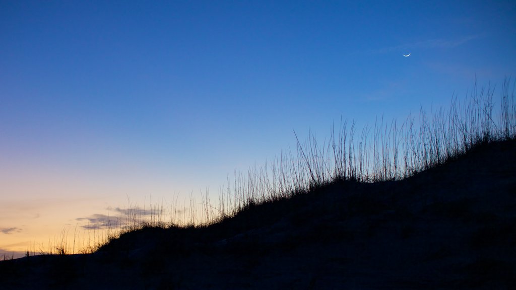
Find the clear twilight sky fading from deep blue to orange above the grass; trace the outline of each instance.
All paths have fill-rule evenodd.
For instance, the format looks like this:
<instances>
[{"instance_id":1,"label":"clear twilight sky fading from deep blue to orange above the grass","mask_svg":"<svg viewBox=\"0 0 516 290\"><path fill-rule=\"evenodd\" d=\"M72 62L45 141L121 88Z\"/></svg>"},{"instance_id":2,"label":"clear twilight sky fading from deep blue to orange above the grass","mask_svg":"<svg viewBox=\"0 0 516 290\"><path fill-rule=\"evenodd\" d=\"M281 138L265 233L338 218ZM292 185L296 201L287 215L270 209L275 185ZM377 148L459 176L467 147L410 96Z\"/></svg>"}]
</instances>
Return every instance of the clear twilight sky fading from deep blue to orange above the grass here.
<instances>
[{"instance_id":1,"label":"clear twilight sky fading from deep blue to orange above the grass","mask_svg":"<svg viewBox=\"0 0 516 290\"><path fill-rule=\"evenodd\" d=\"M0 0L0 255L499 88L515 35L513 1Z\"/></svg>"}]
</instances>

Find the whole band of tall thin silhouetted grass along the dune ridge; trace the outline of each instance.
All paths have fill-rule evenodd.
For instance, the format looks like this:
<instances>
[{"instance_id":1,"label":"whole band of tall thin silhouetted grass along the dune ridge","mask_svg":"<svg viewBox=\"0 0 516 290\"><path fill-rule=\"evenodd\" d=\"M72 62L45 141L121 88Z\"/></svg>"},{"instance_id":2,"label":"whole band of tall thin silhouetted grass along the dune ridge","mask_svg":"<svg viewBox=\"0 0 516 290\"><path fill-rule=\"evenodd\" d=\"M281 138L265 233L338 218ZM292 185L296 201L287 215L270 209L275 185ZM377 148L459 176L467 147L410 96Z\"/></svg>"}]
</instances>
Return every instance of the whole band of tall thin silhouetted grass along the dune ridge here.
<instances>
[{"instance_id":1,"label":"whole band of tall thin silhouetted grass along the dune ridge","mask_svg":"<svg viewBox=\"0 0 516 290\"><path fill-rule=\"evenodd\" d=\"M493 102L495 88L478 89L476 82L467 98L451 99L448 108L409 115L402 122L377 118L361 130L354 121L333 124L322 142L309 133L298 138L295 150L247 172L235 171L219 188L217 205L209 191L198 202L190 195L189 212L178 214L177 198L141 210L128 201L128 209L117 224L107 229L89 229L82 238L63 230L50 251L39 253L91 253L122 234L146 228L202 228L231 218L250 207L307 194L332 182L375 183L402 180L418 172L458 158L475 147L516 138L516 82L505 79L499 104ZM145 204L144 204L145 206ZM150 214L149 214L150 213ZM168 218L168 219L167 219ZM82 244L77 241L83 240ZM49 245L51 243L49 242ZM36 254L34 249L27 255ZM4 258L5 259L5 258Z\"/></svg>"}]
</instances>

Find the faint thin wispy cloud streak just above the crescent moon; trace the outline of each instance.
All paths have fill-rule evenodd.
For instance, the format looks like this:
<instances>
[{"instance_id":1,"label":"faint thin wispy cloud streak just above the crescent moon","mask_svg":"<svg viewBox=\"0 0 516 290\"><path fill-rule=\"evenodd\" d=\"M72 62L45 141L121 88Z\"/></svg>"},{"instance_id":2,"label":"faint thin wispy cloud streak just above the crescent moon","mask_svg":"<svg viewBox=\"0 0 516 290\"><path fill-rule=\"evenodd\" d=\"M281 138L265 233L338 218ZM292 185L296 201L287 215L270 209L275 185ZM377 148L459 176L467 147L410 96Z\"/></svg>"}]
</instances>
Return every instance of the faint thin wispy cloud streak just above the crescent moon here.
<instances>
[{"instance_id":1,"label":"faint thin wispy cloud streak just above the crescent moon","mask_svg":"<svg viewBox=\"0 0 516 290\"><path fill-rule=\"evenodd\" d=\"M429 39L424 41L400 44L391 47L383 47L382 49L378 50L370 50L369 53L384 54L394 51L406 51L414 49L450 49L480 37L481 35L469 35L457 39Z\"/></svg>"}]
</instances>

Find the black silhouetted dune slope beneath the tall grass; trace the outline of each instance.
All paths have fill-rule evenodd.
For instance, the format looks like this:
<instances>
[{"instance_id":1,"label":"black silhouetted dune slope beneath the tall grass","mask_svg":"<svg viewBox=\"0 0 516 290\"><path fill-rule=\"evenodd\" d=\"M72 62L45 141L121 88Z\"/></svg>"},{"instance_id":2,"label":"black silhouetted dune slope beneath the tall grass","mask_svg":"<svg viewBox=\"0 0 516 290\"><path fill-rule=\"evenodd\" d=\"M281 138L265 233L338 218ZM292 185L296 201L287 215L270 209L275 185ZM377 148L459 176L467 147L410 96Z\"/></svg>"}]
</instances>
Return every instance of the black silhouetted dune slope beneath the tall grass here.
<instances>
[{"instance_id":1,"label":"black silhouetted dune slope beneath the tall grass","mask_svg":"<svg viewBox=\"0 0 516 290\"><path fill-rule=\"evenodd\" d=\"M334 183L204 229L0 262L7 289L516 289L516 142L396 182Z\"/></svg>"}]
</instances>

